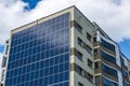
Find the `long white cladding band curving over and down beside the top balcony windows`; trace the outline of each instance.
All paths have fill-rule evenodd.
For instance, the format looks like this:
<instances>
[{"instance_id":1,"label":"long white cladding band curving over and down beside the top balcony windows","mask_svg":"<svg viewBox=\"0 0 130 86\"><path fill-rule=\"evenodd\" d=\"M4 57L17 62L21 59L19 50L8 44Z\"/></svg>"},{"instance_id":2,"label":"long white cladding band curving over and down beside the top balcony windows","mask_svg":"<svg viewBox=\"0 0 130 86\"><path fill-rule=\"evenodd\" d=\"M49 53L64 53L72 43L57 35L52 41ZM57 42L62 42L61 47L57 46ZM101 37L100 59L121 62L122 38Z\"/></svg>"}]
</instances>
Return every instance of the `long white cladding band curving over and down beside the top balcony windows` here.
<instances>
[{"instance_id":1,"label":"long white cladding band curving over and down beside the top balcony windows","mask_svg":"<svg viewBox=\"0 0 130 86\"><path fill-rule=\"evenodd\" d=\"M101 38L102 38L103 40L105 40L106 42L108 42L108 43L110 43L110 44L113 44L113 45L115 46L115 51L116 51L116 63L117 63L119 67L121 67L121 63L120 63L120 52L119 52L118 45L117 45L115 42L113 42L113 41L104 38L104 37L100 33L100 31L98 31L98 41L101 42Z\"/></svg>"}]
</instances>

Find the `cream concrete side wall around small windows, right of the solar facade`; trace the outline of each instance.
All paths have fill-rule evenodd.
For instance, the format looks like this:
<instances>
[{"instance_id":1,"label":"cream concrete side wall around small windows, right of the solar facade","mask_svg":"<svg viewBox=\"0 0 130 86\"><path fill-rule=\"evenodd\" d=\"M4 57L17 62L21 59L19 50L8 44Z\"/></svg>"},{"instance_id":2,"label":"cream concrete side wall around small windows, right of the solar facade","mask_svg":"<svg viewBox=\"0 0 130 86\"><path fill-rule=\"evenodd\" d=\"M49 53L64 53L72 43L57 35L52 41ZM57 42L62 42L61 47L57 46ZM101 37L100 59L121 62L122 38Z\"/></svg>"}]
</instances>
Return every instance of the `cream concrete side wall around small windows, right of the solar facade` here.
<instances>
[{"instance_id":1,"label":"cream concrete side wall around small windows, right of the solar facade","mask_svg":"<svg viewBox=\"0 0 130 86\"><path fill-rule=\"evenodd\" d=\"M80 61L76 56L70 56L70 63L77 63L83 70L94 75L93 69L88 67L87 59L94 60L93 56L90 55L84 48L78 45L77 38L79 37L86 44L92 47L92 42L87 40L87 32L92 34L92 24L88 22L88 19L80 14L80 12L75 9L74 11L74 19L82 27L82 33L78 32L76 28L70 28L70 48L75 47L79 52L83 54L82 61ZM74 20L73 19L73 20ZM82 83L84 86L94 86L94 84L90 83L87 78L80 76L78 73L72 71L70 72L70 86L78 86L78 82Z\"/></svg>"}]
</instances>

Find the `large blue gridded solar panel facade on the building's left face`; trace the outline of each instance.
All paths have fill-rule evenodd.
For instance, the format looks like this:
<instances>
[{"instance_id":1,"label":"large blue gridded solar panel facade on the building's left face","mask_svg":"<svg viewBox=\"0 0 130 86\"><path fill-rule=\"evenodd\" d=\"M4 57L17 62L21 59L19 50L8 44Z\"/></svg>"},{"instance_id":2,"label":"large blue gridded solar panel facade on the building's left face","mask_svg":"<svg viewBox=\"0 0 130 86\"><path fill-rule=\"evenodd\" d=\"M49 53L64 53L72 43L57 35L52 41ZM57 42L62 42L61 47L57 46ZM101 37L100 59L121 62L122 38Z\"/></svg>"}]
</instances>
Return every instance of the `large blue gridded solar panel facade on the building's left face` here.
<instances>
[{"instance_id":1,"label":"large blue gridded solar panel facade on the building's left face","mask_svg":"<svg viewBox=\"0 0 130 86\"><path fill-rule=\"evenodd\" d=\"M12 34L5 86L69 86L69 13Z\"/></svg>"}]
</instances>

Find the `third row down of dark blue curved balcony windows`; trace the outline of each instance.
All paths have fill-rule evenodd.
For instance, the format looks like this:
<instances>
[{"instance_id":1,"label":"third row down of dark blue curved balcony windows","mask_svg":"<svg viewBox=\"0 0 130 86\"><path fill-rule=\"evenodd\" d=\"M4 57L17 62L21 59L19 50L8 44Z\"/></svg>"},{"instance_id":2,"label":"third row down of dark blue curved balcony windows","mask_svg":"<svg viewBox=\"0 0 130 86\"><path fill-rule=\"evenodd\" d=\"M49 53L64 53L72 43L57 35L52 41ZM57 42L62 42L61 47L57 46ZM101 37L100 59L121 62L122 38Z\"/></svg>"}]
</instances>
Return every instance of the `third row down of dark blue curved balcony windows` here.
<instances>
[{"instance_id":1,"label":"third row down of dark blue curved balcony windows","mask_svg":"<svg viewBox=\"0 0 130 86\"><path fill-rule=\"evenodd\" d=\"M102 63L102 70L107 73L107 74L110 74L110 75L114 75L114 76L117 76L117 70L115 69L112 69L105 64Z\"/></svg>"}]
</instances>

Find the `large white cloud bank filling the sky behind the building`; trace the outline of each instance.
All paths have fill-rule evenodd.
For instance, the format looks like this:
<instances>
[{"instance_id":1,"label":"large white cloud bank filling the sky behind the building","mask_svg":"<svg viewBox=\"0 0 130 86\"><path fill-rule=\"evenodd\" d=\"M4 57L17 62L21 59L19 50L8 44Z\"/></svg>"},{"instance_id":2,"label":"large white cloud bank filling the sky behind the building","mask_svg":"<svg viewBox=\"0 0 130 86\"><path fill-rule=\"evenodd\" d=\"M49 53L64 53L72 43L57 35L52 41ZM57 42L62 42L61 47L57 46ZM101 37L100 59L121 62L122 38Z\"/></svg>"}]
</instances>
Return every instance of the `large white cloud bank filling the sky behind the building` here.
<instances>
[{"instance_id":1,"label":"large white cloud bank filling the sky behind the building","mask_svg":"<svg viewBox=\"0 0 130 86\"><path fill-rule=\"evenodd\" d=\"M1 1L0 1L1 2ZM21 0L4 0L0 4L0 44L10 30L70 5L76 5L90 20L98 23L115 41L130 39L130 0L42 0L31 11Z\"/></svg>"}]
</instances>

